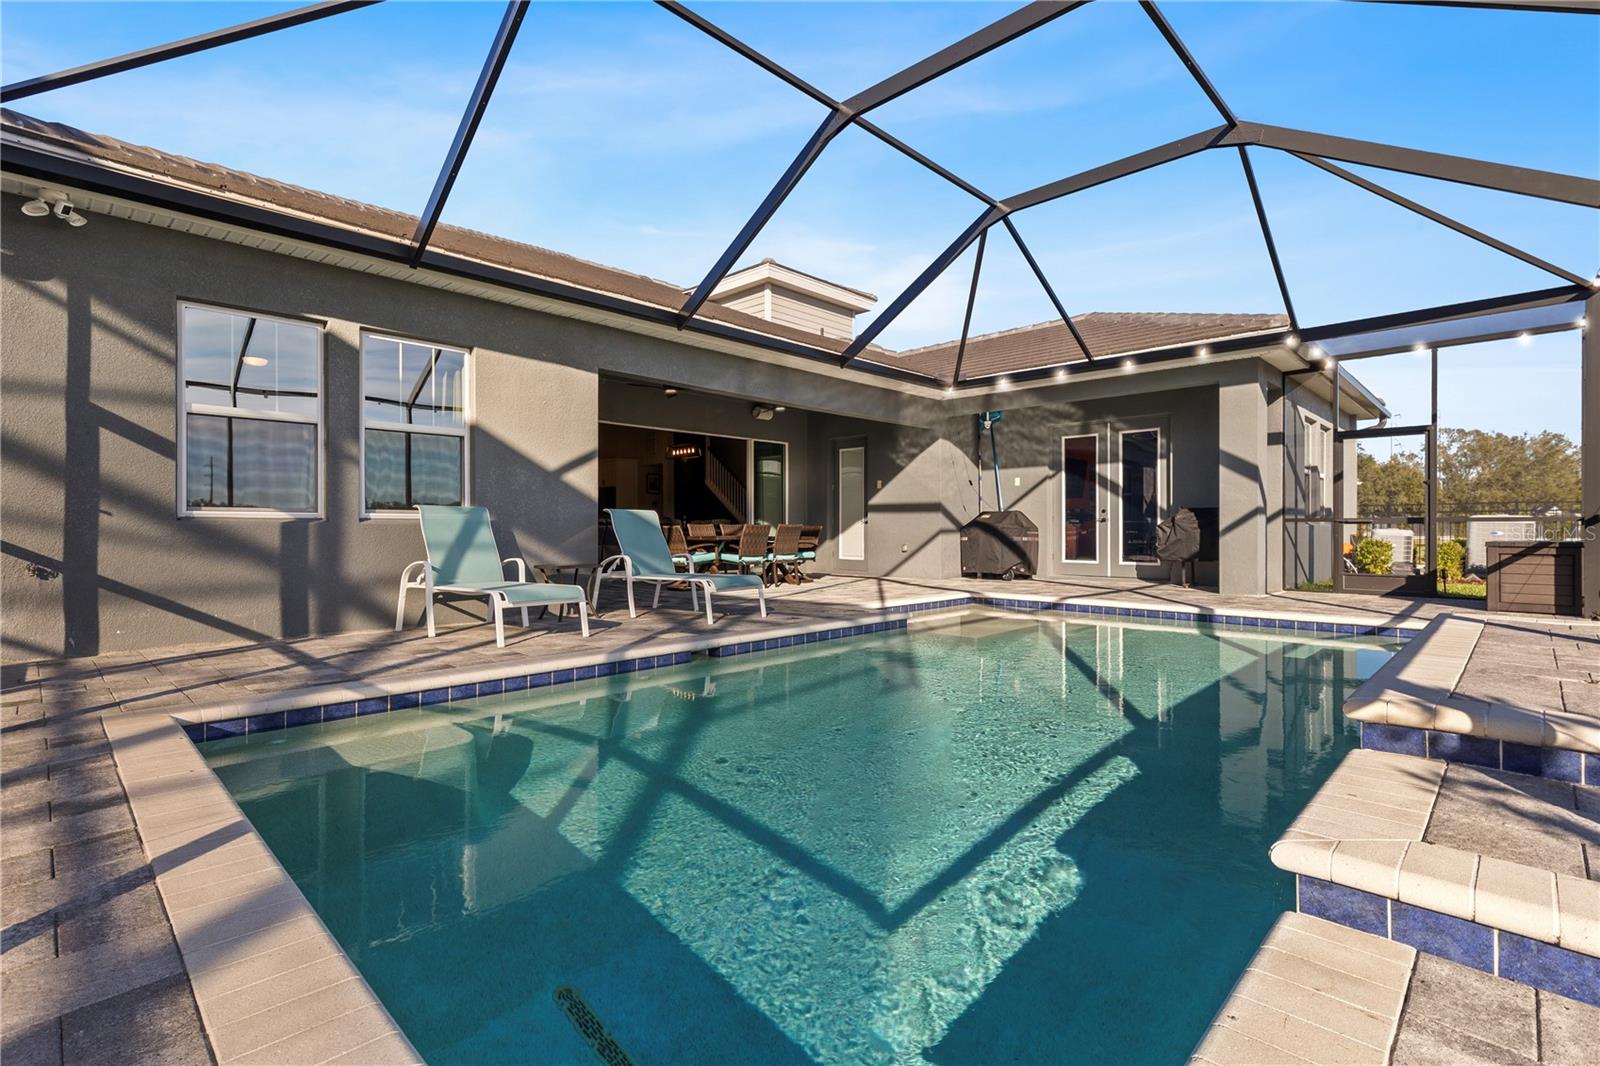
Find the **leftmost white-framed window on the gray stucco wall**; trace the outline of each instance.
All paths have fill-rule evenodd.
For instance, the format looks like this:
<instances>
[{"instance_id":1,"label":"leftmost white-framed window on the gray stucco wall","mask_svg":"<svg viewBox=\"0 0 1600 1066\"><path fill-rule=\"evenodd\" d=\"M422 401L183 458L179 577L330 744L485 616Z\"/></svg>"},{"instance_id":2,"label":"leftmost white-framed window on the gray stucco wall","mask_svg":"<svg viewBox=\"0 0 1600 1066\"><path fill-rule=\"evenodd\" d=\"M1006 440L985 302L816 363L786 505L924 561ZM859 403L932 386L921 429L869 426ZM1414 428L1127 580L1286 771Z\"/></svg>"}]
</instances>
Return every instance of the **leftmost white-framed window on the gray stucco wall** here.
<instances>
[{"instance_id":1,"label":"leftmost white-framed window on the gray stucco wall","mask_svg":"<svg viewBox=\"0 0 1600 1066\"><path fill-rule=\"evenodd\" d=\"M322 330L184 304L179 514L322 511Z\"/></svg>"}]
</instances>

